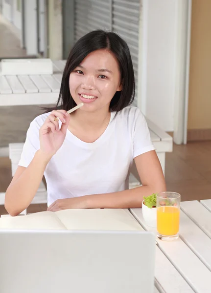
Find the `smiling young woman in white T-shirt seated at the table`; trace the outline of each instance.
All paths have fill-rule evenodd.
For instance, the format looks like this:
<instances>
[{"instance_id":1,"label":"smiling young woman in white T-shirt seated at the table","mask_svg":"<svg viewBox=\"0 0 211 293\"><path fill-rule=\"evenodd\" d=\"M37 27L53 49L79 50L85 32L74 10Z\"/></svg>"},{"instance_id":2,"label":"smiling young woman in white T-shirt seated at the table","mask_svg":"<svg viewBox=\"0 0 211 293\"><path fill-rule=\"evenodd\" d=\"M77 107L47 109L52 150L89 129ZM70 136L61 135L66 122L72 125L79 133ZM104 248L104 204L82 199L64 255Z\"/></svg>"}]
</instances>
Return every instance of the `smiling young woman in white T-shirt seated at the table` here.
<instances>
[{"instance_id":1,"label":"smiling young woman in white T-shirt seated at the table","mask_svg":"<svg viewBox=\"0 0 211 293\"><path fill-rule=\"evenodd\" d=\"M26 209L43 175L50 211L138 208L143 196L164 191L164 175L144 116L129 106L134 94L126 42L101 30L76 42L57 106L35 118L27 131L19 166L6 191L7 211L14 216ZM80 103L81 108L67 113ZM142 186L129 190L133 159Z\"/></svg>"}]
</instances>

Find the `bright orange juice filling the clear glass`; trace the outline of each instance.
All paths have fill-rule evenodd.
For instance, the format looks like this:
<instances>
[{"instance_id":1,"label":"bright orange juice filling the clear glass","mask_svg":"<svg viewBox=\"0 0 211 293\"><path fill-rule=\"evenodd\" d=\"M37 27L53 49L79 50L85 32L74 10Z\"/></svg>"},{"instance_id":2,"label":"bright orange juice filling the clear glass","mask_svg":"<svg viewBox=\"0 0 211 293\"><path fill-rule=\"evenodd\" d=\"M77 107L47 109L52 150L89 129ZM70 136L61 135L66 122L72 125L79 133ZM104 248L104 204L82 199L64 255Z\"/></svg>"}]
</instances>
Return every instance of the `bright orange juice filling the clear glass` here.
<instances>
[{"instance_id":1,"label":"bright orange juice filling the clear glass","mask_svg":"<svg viewBox=\"0 0 211 293\"><path fill-rule=\"evenodd\" d=\"M161 235L171 236L179 232L180 209L172 206L157 208L157 231Z\"/></svg>"}]
</instances>

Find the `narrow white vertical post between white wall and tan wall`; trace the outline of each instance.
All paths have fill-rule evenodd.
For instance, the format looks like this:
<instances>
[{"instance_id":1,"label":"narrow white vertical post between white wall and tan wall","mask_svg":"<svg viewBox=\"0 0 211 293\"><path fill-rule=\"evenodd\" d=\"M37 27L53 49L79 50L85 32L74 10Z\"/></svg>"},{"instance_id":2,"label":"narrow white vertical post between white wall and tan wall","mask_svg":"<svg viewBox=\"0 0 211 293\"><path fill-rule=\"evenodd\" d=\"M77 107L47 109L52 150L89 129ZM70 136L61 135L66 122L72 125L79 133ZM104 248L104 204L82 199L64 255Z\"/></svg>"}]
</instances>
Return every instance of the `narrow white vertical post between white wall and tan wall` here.
<instances>
[{"instance_id":1,"label":"narrow white vertical post between white wall and tan wall","mask_svg":"<svg viewBox=\"0 0 211 293\"><path fill-rule=\"evenodd\" d=\"M174 143L187 144L191 0L177 1L177 60L174 103Z\"/></svg>"}]
</instances>

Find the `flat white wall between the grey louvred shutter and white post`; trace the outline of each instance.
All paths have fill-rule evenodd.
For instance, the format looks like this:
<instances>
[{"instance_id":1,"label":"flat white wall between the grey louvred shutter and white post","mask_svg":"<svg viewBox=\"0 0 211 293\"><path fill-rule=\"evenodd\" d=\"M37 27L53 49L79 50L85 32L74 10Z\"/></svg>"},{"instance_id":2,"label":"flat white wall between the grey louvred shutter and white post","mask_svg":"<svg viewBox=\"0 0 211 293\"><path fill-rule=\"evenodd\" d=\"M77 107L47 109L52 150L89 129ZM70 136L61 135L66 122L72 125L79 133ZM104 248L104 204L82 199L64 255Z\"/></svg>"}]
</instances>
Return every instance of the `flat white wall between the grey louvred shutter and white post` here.
<instances>
[{"instance_id":1,"label":"flat white wall between the grey louvred shutter and white post","mask_svg":"<svg viewBox=\"0 0 211 293\"><path fill-rule=\"evenodd\" d=\"M143 0L139 106L151 121L174 130L177 0Z\"/></svg>"}]
</instances>

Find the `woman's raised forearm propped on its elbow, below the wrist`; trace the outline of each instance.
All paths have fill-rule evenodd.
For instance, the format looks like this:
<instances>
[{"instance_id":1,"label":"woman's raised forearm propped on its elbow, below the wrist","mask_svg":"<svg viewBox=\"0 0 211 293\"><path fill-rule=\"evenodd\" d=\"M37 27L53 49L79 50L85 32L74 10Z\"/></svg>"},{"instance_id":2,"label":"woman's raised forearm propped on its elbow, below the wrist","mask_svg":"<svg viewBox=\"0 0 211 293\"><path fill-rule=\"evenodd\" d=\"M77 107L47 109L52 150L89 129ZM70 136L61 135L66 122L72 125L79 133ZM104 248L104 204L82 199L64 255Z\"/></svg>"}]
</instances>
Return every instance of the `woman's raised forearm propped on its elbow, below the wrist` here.
<instances>
[{"instance_id":1,"label":"woman's raised forearm propped on its elbow, below the wrist","mask_svg":"<svg viewBox=\"0 0 211 293\"><path fill-rule=\"evenodd\" d=\"M10 215L18 215L30 205L43 179L49 160L49 156L38 150L20 177L11 182L5 194L5 209Z\"/></svg>"}]
</instances>

